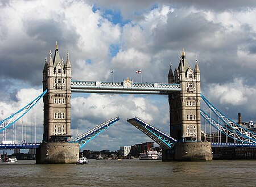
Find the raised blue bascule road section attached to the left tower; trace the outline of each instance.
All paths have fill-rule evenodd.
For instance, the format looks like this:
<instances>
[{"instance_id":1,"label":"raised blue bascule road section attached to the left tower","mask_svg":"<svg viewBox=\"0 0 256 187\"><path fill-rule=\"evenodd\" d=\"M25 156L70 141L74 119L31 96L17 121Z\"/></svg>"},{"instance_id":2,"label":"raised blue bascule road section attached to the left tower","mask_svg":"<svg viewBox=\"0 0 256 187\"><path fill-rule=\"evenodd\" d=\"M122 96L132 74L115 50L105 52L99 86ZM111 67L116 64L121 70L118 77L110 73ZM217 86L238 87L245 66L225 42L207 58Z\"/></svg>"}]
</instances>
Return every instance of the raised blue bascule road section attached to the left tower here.
<instances>
[{"instance_id":1,"label":"raised blue bascule road section attached to the left tower","mask_svg":"<svg viewBox=\"0 0 256 187\"><path fill-rule=\"evenodd\" d=\"M119 117L116 117L114 119L110 119L108 121L103 122L102 124L96 126L93 129L90 129L84 134L79 135L79 137L72 139L71 142L77 142L79 143L79 149L84 147L89 141L91 141L93 138L95 138L97 135L102 133L102 131L108 129L111 125L113 125L115 122L119 120Z\"/></svg>"}]
</instances>

